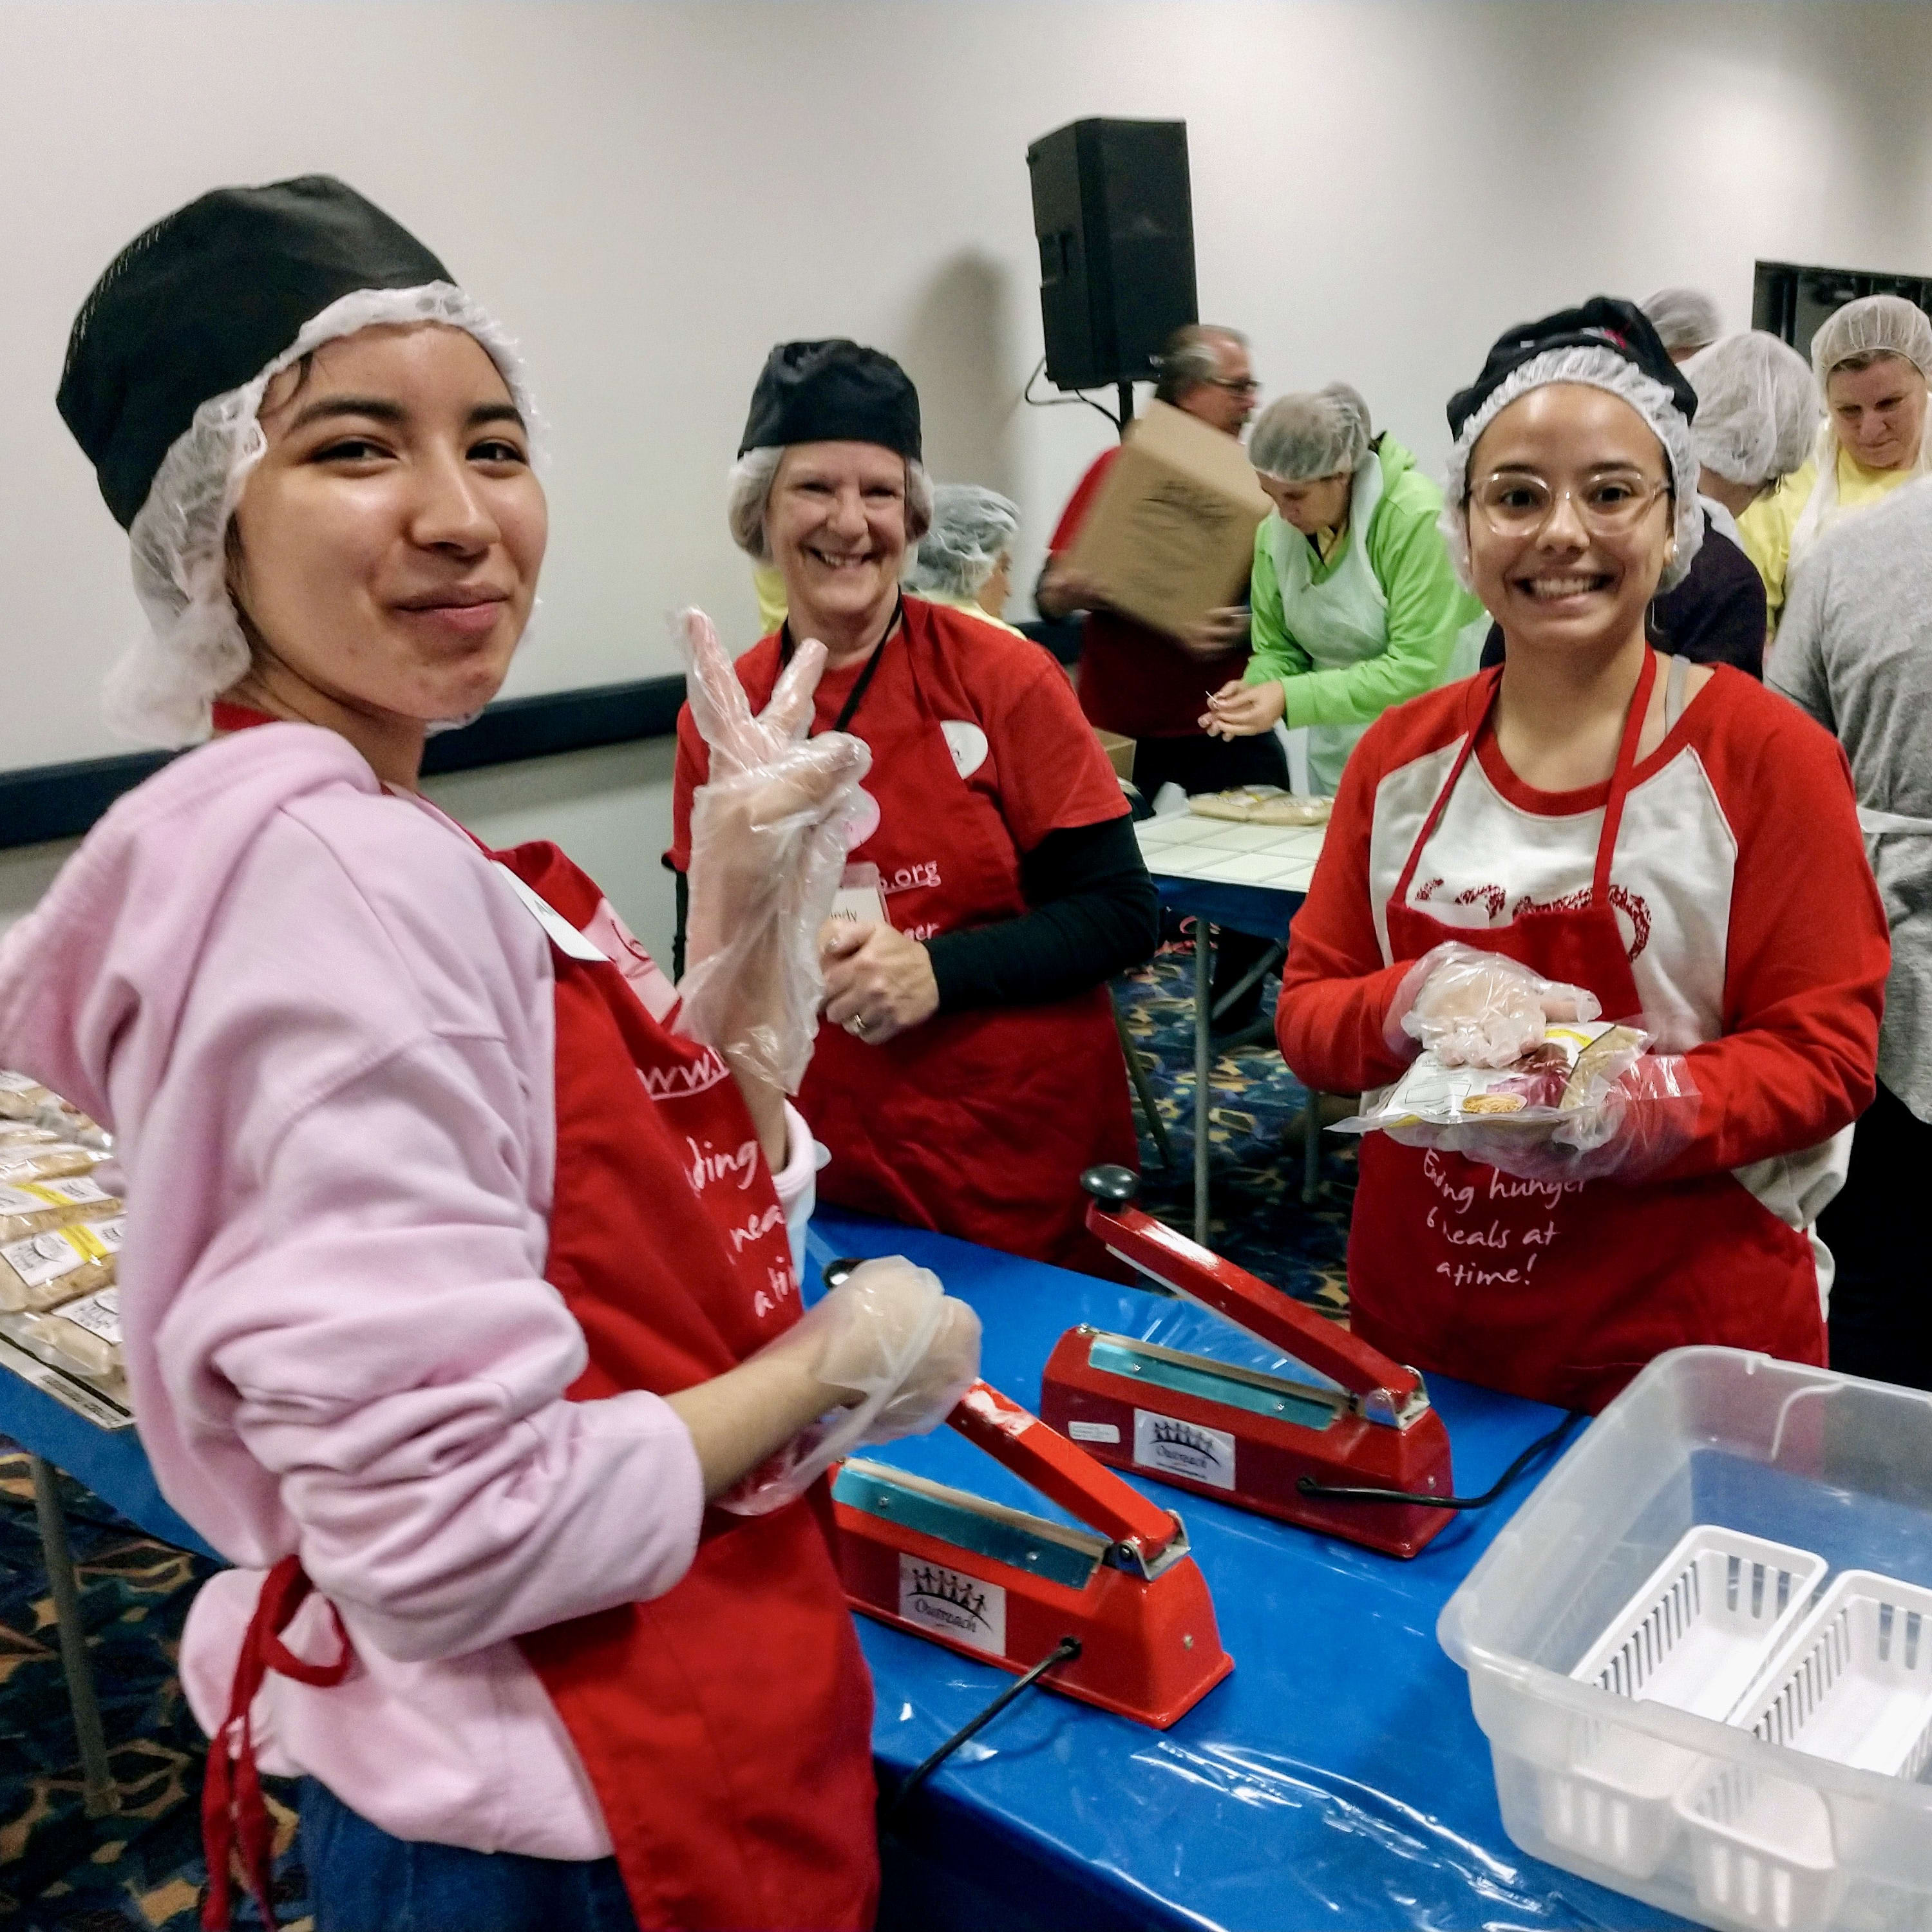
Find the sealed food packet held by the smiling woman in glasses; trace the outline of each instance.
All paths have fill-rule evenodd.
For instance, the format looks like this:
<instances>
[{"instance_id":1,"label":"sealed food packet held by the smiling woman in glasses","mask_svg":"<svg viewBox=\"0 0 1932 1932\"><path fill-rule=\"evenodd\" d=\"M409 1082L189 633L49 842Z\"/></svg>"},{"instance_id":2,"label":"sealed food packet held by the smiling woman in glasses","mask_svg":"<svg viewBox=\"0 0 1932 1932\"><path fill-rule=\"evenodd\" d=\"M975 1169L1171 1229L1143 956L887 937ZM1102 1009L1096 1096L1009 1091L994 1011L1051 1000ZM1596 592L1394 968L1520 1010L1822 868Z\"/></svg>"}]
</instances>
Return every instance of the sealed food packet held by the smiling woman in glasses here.
<instances>
[{"instance_id":1,"label":"sealed food packet held by the smiling woman in glasses","mask_svg":"<svg viewBox=\"0 0 1932 1932\"><path fill-rule=\"evenodd\" d=\"M1445 1066L1424 1051L1395 1086L1362 1099L1337 1132L1405 1126L1549 1126L1575 1121L1638 1063L1650 1036L1613 1020L1551 1020L1542 1043L1509 1066Z\"/></svg>"}]
</instances>

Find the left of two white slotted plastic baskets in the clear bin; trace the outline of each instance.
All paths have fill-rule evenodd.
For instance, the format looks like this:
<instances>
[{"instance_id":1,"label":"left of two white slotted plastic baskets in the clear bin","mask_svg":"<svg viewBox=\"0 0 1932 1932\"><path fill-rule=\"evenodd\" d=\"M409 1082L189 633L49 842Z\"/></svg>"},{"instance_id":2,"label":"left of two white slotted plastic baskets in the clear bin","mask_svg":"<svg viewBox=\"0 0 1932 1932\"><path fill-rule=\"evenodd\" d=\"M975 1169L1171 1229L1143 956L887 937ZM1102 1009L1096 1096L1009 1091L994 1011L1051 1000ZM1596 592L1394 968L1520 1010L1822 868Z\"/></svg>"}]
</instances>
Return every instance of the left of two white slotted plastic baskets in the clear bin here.
<instances>
[{"instance_id":1,"label":"left of two white slotted plastic baskets in the clear bin","mask_svg":"<svg viewBox=\"0 0 1932 1932\"><path fill-rule=\"evenodd\" d=\"M1633 1702L1727 1719L1824 1580L1824 1557L1700 1522L1644 1578L1571 1671ZM1694 1750L1621 1725L1573 1727L1569 1764L1538 1774L1549 1837L1648 1878L1681 1828L1673 1801L1704 1770Z\"/></svg>"}]
</instances>

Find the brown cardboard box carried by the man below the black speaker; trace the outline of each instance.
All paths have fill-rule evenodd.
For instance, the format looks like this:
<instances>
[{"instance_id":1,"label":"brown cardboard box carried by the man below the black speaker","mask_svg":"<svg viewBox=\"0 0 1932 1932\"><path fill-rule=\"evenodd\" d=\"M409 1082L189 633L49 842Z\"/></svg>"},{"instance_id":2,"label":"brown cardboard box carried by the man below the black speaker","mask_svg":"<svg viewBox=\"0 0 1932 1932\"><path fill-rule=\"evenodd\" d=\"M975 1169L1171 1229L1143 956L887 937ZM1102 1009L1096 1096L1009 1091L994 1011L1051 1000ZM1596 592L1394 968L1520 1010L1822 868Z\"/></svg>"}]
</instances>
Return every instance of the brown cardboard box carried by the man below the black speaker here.
<instances>
[{"instance_id":1,"label":"brown cardboard box carried by the man below the black speaker","mask_svg":"<svg viewBox=\"0 0 1932 1932\"><path fill-rule=\"evenodd\" d=\"M1095 576L1117 611L1180 636L1240 601L1254 526L1269 508L1235 437L1153 402L1128 429L1066 562Z\"/></svg>"}]
</instances>

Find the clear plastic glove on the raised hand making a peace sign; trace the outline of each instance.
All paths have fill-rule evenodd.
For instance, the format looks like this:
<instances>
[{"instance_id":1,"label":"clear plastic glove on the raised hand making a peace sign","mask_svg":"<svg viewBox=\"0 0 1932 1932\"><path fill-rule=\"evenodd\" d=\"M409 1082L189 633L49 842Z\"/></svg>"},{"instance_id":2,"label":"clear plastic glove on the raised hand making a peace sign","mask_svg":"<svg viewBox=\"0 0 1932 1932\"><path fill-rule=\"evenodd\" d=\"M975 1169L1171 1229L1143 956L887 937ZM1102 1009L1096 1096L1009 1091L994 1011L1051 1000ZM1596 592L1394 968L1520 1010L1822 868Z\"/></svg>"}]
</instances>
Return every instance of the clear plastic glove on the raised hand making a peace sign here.
<instances>
[{"instance_id":1,"label":"clear plastic glove on the raised hand making a peace sign","mask_svg":"<svg viewBox=\"0 0 1932 1932\"><path fill-rule=\"evenodd\" d=\"M711 620L672 628L690 661L692 717L711 746L692 794L688 968L674 1026L738 1070L796 1094L825 980L819 927L866 817L871 752L844 732L808 738L825 645L806 639L753 717Z\"/></svg>"}]
</instances>

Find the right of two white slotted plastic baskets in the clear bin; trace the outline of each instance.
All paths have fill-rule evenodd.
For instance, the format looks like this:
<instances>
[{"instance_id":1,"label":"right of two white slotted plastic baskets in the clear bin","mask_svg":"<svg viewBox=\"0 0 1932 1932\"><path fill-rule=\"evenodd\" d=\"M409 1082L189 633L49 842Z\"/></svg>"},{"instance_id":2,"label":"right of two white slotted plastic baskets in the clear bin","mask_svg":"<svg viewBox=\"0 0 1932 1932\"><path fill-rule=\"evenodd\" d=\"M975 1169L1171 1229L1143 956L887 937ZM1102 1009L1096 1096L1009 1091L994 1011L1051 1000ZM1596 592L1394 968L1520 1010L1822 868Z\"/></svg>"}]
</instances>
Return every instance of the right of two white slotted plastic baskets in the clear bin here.
<instances>
[{"instance_id":1,"label":"right of two white slotted plastic baskets in the clear bin","mask_svg":"<svg viewBox=\"0 0 1932 1932\"><path fill-rule=\"evenodd\" d=\"M1932 1590L1845 1571L1733 1723L1768 1745L1917 1779L1932 1760ZM1787 1932L1837 1909L1841 1866L1816 1791L1731 1764L1692 1779L1675 1810L1712 1917Z\"/></svg>"}]
</instances>

